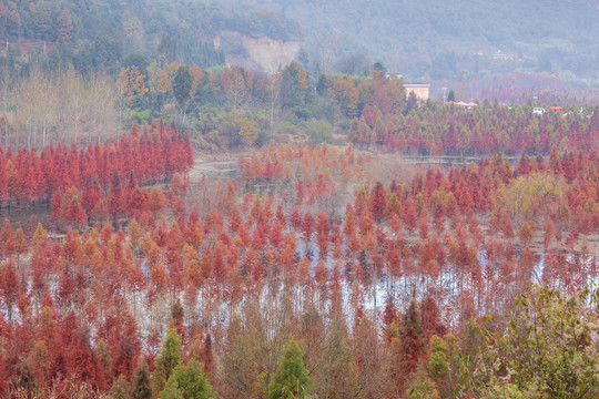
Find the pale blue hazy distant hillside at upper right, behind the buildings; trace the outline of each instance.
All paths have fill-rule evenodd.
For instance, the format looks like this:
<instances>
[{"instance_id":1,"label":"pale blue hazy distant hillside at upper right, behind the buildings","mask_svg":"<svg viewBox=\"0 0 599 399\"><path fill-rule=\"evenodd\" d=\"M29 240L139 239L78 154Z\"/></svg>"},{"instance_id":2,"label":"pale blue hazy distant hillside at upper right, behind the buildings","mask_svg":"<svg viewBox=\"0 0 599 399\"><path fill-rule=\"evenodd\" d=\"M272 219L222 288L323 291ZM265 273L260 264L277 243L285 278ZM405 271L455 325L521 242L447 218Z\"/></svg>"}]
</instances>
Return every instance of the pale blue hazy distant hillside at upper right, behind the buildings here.
<instances>
[{"instance_id":1,"label":"pale blue hazy distant hillside at upper right, behind the buildings","mask_svg":"<svg viewBox=\"0 0 599 399\"><path fill-rule=\"evenodd\" d=\"M595 0L275 2L309 32L319 57L374 58L412 79L516 70L597 79Z\"/></svg>"}]
</instances>

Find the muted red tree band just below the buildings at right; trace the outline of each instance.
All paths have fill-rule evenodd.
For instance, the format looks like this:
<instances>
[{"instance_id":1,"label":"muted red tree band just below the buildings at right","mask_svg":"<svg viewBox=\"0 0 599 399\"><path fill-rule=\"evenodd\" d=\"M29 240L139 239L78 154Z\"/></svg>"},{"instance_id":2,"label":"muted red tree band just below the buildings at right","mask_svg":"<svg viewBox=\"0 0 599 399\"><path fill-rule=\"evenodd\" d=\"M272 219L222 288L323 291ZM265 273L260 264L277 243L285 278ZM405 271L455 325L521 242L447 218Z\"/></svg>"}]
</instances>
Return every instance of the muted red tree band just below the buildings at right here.
<instances>
[{"instance_id":1,"label":"muted red tree band just below the buildings at right","mask_svg":"<svg viewBox=\"0 0 599 399\"><path fill-rule=\"evenodd\" d=\"M362 147L433 155L490 155L549 153L552 146L572 151L597 149L599 114L551 113L534 115L528 108L505 106L461 110L423 106L406 116L366 112L355 119L348 139Z\"/></svg>"}]
</instances>

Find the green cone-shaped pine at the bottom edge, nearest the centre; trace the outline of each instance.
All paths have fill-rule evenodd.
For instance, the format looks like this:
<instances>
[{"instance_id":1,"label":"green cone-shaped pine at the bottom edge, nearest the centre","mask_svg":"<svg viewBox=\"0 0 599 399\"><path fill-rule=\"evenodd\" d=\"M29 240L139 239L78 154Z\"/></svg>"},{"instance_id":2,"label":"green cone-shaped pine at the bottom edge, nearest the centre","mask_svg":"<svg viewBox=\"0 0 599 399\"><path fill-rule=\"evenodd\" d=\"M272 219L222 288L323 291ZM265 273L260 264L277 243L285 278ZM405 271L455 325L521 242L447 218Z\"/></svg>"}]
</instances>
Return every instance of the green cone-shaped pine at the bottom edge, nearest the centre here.
<instances>
[{"instance_id":1,"label":"green cone-shaped pine at the bottom edge, nearest the centre","mask_svg":"<svg viewBox=\"0 0 599 399\"><path fill-rule=\"evenodd\" d=\"M270 399L305 398L309 392L312 380L304 366L303 352L297 342L291 338L285 352L278 360L278 368L268 383Z\"/></svg>"}]
</instances>

